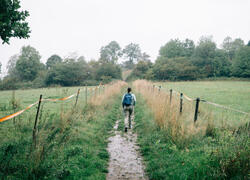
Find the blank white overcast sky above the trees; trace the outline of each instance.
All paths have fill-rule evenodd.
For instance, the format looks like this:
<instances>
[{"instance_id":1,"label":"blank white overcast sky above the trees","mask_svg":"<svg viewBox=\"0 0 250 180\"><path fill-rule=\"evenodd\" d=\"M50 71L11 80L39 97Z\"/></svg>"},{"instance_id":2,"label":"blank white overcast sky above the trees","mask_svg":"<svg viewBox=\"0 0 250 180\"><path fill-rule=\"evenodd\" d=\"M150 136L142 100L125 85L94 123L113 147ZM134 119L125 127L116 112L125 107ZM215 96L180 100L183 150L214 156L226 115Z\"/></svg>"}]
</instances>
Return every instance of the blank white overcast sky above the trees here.
<instances>
[{"instance_id":1,"label":"blank white overcast sky above the trees","mask_svg":"<svg viewBox=\"0 0 250 180\"><path fill-rule=\"evenodd\" d=\"M250 40L250 0L21 0L30 12L27 40L0 44L0 61L23 45L35 47L42 62L53 54L71 52L98 59L101 46L138 43L155 60L170 39L212 35L217 45L226 36ZM0 40L1 41L1 40Z\"/></svg>"}]
</instances>

